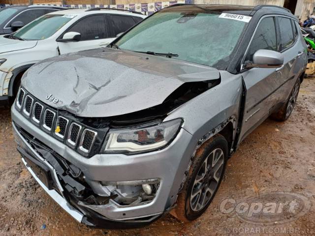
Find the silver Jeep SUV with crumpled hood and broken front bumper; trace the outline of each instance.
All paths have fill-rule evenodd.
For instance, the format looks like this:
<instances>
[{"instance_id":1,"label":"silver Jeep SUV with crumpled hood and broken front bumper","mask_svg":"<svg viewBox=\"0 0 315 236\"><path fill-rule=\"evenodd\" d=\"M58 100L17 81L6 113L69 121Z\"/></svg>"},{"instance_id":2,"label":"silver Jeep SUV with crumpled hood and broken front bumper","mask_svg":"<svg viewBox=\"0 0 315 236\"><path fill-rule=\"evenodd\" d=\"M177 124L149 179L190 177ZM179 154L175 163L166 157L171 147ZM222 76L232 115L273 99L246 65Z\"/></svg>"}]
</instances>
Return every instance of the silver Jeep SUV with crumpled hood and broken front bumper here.
<instances>
[{"instance_id":1,"label":"silver Jeep SUV with crumpled hood and broken front bumper","mask_svg":"<svg viewBox=\"0 0 315 236\"><path fill-rule=\"evenodd\" d=\"M89 226L193 220L240 142L269 116L290 116L306 64L284 8L173 5L107 48L32 66L12 106L18 150Z\"/></svg>"}]
</instances>

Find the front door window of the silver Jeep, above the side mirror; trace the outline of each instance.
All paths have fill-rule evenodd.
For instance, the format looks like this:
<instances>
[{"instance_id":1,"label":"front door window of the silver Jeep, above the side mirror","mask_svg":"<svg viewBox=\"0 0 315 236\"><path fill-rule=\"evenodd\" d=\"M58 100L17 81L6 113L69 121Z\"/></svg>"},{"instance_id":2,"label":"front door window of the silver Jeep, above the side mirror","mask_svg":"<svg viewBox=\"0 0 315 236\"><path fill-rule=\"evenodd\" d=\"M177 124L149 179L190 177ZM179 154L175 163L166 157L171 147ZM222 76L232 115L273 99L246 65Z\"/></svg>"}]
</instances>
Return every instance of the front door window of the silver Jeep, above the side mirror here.
<instances>
[{"instance_id":1,"label":"front door window of the silver Jeep, above the side mirror","mask_svg":"<svg viewBox=\"0 0 315 236\"><path fill-rule=\"evenodd\" d=\"M260 49L277 51L276 27L273 17L264 18L259 23L245 60L252 61L252 56Z\"/></svg>"}]
</instances>

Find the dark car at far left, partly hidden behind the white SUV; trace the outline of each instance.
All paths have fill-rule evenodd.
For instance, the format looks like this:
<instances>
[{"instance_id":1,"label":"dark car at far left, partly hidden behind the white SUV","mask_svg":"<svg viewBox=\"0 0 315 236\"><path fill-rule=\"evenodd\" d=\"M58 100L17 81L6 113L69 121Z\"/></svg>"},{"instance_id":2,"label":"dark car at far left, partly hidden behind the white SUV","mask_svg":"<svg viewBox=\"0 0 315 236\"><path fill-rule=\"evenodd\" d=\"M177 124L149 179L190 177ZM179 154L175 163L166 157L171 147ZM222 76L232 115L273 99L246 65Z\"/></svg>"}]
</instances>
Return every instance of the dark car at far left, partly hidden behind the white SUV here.
<instances>
[{"instance_id":1,"label":"dark car at far left, partly hidden behind the white SUV","mask_svg":"<svg viewBox=\"0 0 315 236\"><path fill-rule=\"evenodd\" d=\"M48 5L13 5L3 7L0 9L0 34L12 33L38 17L64 9L64 7Z\"/></svg>"}]
</instances>

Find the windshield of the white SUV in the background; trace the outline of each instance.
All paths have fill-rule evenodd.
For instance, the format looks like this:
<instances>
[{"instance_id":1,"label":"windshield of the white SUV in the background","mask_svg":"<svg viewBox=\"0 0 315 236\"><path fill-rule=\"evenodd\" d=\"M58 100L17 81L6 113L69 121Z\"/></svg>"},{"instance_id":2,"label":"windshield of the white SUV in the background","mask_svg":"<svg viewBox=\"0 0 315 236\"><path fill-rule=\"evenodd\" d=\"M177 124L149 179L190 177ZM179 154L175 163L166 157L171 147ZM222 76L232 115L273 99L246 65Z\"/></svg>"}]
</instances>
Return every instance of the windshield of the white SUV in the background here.
<instances>
[{"instance_id":1,"label":"windshield of the white SUV in the background","mask_svg":"<svg viewBox=\"0 0 315 236\"><path fill-rule=\"evenodd\" d=\"M24 40L46 39L62 28L73 16L68 15L44 15L13 34Z\"/></svg>"}]
</instances>

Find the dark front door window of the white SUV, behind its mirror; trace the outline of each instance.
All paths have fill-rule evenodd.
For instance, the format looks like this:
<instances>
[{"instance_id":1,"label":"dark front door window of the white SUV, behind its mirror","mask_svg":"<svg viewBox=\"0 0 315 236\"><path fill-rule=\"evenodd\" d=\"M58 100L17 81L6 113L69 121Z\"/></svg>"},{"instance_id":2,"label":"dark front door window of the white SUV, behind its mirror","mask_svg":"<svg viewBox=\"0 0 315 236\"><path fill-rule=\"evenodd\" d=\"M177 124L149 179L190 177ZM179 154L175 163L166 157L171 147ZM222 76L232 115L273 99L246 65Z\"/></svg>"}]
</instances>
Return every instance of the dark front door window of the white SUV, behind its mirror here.
<instances>
[{"instance_id":1,"label":"dark front door window of the white SUV, behind its mirror","mask_svg":"<svg viewBox=\"0 0 315 236\"><path fill-rule=\"evenodd\" d=\"M86 17L67 30L70 31L81 33L81 41L107 38L104 15Z\"/></svg>"}]
</instances>

